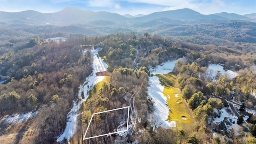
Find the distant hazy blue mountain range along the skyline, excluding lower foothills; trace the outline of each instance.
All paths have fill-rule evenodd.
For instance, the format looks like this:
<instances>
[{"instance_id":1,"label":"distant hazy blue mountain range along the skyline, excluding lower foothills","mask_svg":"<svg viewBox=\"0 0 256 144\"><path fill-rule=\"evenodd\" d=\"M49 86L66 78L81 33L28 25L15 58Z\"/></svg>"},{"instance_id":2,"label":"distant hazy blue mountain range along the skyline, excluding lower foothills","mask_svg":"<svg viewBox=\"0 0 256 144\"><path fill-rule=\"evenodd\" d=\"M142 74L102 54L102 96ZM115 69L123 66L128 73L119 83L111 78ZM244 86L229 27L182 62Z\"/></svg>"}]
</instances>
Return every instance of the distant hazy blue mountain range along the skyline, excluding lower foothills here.
<instances>
[{"instance_id":1,"label":"distant hazy blue mountain range along the skyline, excluding lower foothills","mask_svg":"<svg viewBox=\"0 0 256 144\"><path fill-rule=\"evenodd\" d=\"M93 21L110 21L116 24L132 23L158 23L172 24L200 24L200 23L218 23L229 22L231 20L246 20L256 22L256 14L229 14L221 12L217 14L204 15L194 10L184 8L180 10L170 10L163 12L154 12L148 15L131 16L129 14L120 15L111 12L93 12L92 10L82 10L79 8L67 7L59 12L41 13L34 10L22 12L3 12L0 11L1 26L4 27L22 27L22 26L68 26L74 24L89 24Z\"/></svg>"}]
</instances>

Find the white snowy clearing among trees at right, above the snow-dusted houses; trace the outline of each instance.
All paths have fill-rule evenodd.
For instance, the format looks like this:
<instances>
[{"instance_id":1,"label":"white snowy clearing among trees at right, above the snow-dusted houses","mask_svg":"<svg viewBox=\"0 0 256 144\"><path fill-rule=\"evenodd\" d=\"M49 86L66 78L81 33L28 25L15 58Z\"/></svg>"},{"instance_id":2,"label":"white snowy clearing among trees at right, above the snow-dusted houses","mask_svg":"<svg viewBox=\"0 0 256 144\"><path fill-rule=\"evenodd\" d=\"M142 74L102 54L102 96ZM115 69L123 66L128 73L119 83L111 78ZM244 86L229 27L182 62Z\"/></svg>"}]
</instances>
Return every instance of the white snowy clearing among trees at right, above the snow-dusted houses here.
<instances>
[{"instance_id":1,"label":"white snowy clearing among trees at right, above the snow-dusted houses","mask_svg":"<svg viewBox=\"0 0 256 144\"><path fill-rule=\"evenodd\" d=\"M208 70L212 69L214 71L214 76L216 76L217 71L219 70L220 73L222 74L222 76L224 76L225 74L227 75L228 79L232 79L236 76L238 76L239 74L237 72L234 72L232 70L224 70L223 66L219 65L219 64L209 64L208 66Z\"/></svg>"}]
</instances>

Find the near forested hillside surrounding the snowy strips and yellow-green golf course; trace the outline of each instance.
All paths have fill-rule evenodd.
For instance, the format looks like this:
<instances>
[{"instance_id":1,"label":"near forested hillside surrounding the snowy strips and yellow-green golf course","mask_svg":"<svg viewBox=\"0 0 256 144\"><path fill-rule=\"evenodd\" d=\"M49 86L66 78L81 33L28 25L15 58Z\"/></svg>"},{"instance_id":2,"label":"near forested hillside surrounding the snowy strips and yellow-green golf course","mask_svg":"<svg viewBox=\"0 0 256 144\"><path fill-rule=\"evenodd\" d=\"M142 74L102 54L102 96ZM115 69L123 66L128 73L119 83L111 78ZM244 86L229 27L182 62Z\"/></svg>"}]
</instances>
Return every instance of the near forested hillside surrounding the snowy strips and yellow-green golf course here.
<instances>
[{"instance_id":1,"label":"near forested hillside surrounding the snowy strips and yellow-green golf course","mask_svg":"<svg viewBox=\"0 0 256 144\"><path fill-rule=\"evenodd\" d=\"M44 40L48 37L64 36L66 41ZM88 116L96 111L104 111L127 105L124 96L136 94L135 107L138 110L139 134L134 137L139 143L203 143L218 142L220 138L208 135L208 120L214 115L213 109L220 110L223 104L220 99L210 98L212 94L231 98L233 89L241 90L244 95L236 98L248 107L256 104L251 92L256 86L253 66L256 54L253 45L246 50L236 50L227 46L192 44L182 42L169 36L160 36L144 32L137 34L117 33L107 36L84 36L69 33L40 34L1 41L0 74L0 114L38 111L36 127L38 135L33 143L55 143L64 131L67 113L77 99L78 88L92 72L90 53L84 52L81 45L93 44L101 47L99 55L108 63L112 76L97 89L87 100L84 109L86 114L80 116L78 133L74 136L80 142L88 124ZM244 47L244 44L241 44ZM194 127L182 130L159 128L153 131L152 111L154 103L148 98L148 76L150 70L168 60L178 61L174 68L177 76L177 87L182 90L182 97L194 110ZM136 60L136 62L134 62ZM225 76L214 82L207 75L209 64L224 64L224 68L237 70L240 76L228 80ZM134 67L139 68L138 71ZM199 77L200 74L200 77ZM117 118L117 117L116 117ZM99 118L104 123L104 117ZM113 120L114 121L114 120ZM252 116L252 134L255 118ZM99 123L98 123L99 124ZM98 125L101 126L101 125ZM253 129L254 128L254 129ZM105 129L107 130L107 129ZM140 130L143 130L140 131ZM7 129L6 129L7 131ZM1 130L1 134L6 132ZM209 141L209 140L212 141ZM112 142L111 138L102 137L86 142ZM242 142L243 137L231 139L230 143ZM226 141L226 140L225 140Z\"/></svg>"}]
</instances>

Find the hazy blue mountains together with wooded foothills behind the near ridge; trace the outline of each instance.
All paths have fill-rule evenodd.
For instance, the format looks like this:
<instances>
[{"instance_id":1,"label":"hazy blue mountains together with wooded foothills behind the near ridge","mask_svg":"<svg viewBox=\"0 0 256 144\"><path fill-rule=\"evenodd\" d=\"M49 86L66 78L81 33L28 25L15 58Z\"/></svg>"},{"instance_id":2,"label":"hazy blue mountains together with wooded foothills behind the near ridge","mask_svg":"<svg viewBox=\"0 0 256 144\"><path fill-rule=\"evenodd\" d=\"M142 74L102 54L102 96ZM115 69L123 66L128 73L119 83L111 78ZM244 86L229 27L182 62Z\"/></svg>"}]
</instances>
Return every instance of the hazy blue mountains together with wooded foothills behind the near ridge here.
<instances>
[{"instance_id":1,"label":"hazy blue mountains together with wooded foothills behind the near ridge","mask_svg":"<svg viewBox=\"0 0 256 144\"><path fill-rule=\"evenodd\" d=\"M175 36L197 44L222 44L214 43L213 38L218 41L256 43L255 13L204 15L188 8L136 16L72 7L54 13L0 11L0 25L0 40L12 35L58 33L58 36L62 36L61 32L87 36L148 32L152 35Z\"/></svg>"}]
</instances>

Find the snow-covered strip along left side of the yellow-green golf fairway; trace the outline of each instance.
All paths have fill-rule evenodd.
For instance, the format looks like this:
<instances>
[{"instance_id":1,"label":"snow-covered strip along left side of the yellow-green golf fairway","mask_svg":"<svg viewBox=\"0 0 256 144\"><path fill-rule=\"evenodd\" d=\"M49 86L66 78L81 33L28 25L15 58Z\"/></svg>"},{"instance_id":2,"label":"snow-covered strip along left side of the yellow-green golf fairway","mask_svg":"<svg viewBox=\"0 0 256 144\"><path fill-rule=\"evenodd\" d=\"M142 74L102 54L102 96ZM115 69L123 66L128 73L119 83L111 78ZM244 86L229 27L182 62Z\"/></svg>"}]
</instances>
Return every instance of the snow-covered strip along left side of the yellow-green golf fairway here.
<instances>
[{"instance_id":1,"label":"snow-covered strip along left side of the yellow-green golf fairway","mask_svg":"<svg viewBox=\"0 0 256 144\"><path fill-rule=\"evenodd\" d=\"M178 59L182 60L182 58ZM158 65L158 69L155 72L151 72L151 74L168 74L173 71L177 60L165 62L161 65ZM155 116L159 123L162 123L160 126L163 128L175 127L176 122L171 121L168 122L167 118L169 116L169 108L166 106L166 96L164 96L164 86L160 84L160 80L156 76L149 77L149 87L148 87L148 95L155 102Z\"/></svg>"}]
</instances>

